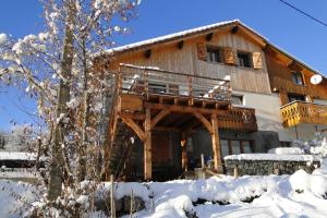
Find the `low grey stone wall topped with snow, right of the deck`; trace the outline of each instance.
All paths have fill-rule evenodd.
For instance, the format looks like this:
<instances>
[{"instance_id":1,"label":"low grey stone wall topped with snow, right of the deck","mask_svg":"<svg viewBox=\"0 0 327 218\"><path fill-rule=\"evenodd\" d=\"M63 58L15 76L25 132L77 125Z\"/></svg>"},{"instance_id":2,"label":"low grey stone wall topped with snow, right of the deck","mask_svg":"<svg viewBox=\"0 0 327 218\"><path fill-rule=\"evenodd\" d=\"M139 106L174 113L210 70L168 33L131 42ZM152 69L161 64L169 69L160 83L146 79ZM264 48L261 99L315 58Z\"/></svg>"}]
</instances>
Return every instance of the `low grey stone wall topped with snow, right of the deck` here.
<instances>
[{"instance_id":1,"label":"low grey stone wall topped with snow, right of the deck","mask_svg":"<svg viewBox=\"0 0 327 218\"><path fill-rule=\"evenodd\" d=\"M226 173L233 175L238 168L238 174L244 175L268 175L268 174L292 174L303 169L312 173L314 169L320 167L320 161L290 161L290 160L225 160Z\"/></svg>"}]
</instances>

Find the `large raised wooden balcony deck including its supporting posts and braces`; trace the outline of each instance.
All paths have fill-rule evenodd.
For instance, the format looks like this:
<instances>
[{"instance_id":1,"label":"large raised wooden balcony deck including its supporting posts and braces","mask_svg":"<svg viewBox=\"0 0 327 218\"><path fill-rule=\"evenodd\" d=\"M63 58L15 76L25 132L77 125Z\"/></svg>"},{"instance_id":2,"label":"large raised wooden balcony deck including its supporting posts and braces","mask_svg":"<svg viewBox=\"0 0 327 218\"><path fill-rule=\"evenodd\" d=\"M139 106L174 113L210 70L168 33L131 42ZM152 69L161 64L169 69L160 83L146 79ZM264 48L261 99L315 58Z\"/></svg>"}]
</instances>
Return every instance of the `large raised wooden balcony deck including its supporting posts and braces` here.
<instances>
[{"instance_id":1,"label":"large raised wooden balcony deck including its supporting posts and braces","mask_svg":"<svg viewBox=\"0 0 327 218\"><path fill-rule=\"evenodd\" d=\"M219 129L256 131L254 109L231 106L230 82L158 69L121 65L111 137L119 121L144 142L144 179L152 179L152 132L181 135L182 167L187 168L186 138L198 126L211 135L215 170L221 170ZM173 80L171 74L174 74ZM180 78L175 81L175 77Z\"/></svg>"}]
</instances>

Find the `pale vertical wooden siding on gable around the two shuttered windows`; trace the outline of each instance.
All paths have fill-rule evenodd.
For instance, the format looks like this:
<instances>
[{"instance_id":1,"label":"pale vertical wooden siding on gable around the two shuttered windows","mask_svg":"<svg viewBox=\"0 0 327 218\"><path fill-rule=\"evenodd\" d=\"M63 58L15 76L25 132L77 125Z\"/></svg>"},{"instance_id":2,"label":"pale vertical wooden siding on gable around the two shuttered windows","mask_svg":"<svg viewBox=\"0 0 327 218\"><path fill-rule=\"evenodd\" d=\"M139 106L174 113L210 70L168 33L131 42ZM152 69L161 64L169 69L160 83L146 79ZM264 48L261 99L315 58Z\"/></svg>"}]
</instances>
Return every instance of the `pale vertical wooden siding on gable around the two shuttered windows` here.
<instances>
[{"instance_id":1,"label":"pale vertical wooden siding on gable around the two shuttered windows","mask_svg":"<svg viewBox=\"0 0 327 218\"><path fill-rule=\"evenodd\" d=\"M111 65L117 68L119 63L130 63L135 65L158 66L162 70L213 78L223 78L226 75L230 75L231 87L234 90L270 94L265 53L262 51L261 46L243 37L241 33L215 33L210 41L206 41L205 36L185 39L182 49L178 48L178 43L179 41L172 41L153 47L149 58L146 58L144 50L120 55ZM207 45L219 47L231 47L234 51L261 52L263 68L255 70L199 60L197 57L198 43L206 43Z\"/></svg>"}]
</instances>

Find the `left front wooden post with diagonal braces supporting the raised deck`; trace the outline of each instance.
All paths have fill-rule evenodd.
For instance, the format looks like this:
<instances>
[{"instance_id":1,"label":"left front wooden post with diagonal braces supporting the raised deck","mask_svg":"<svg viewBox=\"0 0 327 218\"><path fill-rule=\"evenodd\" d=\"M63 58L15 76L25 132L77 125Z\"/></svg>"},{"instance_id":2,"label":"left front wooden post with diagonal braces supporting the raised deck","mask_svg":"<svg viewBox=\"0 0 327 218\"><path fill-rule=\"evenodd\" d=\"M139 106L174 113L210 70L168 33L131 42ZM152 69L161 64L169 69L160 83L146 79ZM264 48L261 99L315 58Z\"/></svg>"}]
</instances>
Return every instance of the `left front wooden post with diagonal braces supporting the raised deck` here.
<instances>
[{"instance_id":1,"label":"left front wooden post with diagonal braces supporting the raised deck","mask_svg":"<svg viewBox=\"0 0 327 218\"><path fill-rule=\"evenodd\" d=\"M152 114L150 109L145 109L145 138L144 138L144 180L152 180L153 160L152 160Z\"/></svg>"}]
</instances>

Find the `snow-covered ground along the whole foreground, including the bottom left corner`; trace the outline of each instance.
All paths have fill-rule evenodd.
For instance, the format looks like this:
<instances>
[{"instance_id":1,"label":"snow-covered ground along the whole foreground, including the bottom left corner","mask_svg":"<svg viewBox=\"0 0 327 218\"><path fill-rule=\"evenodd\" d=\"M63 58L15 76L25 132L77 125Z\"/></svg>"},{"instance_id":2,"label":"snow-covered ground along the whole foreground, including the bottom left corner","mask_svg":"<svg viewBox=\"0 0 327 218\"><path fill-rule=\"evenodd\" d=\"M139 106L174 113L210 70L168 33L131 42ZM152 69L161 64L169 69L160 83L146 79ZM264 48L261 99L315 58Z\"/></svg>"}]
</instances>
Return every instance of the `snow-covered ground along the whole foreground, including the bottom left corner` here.
<instances>
[{"instance_id":1,"label":"snow-covered ground along the whole foreground, including the bottom left corner","mask_svg":"<svg viewBox=\"0 0 327 218\"><path fill-rule=\"evenodd\" d=\"M129 196L133 190L135 196L145 201L146 209L133 217L327 217L325 172L326 165L323 165L313 174L299 170L292 175L237 179L221 175L195 181L119 183L114 195ZM0 190L1 218L20 217L38 195L36 187L22 182L0 180ZM108 190L109 183L101 184L97 195L108 197ZM93 215L105 217L104 213Z\"/></svg>"}]
</instances>

